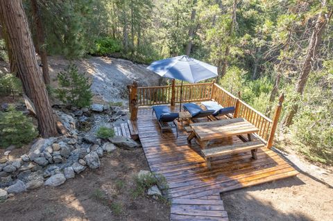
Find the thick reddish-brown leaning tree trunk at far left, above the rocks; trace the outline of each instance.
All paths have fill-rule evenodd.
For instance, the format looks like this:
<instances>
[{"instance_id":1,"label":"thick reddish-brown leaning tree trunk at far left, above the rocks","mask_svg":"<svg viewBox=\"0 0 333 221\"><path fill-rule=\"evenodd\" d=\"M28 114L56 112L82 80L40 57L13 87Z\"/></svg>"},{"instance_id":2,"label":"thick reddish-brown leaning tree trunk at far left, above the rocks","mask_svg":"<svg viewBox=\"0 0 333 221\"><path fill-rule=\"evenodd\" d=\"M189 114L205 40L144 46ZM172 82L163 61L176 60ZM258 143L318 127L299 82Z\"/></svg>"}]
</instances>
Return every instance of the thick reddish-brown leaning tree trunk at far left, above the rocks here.
<instances>
[{"instance_id":1,"label":"thick reddish-brown leaning tree trunk at far left, above the rocks","mask_svg":"<svg viewBox=\"0 0 333 221\"><path fill-rule=\"evenodd\" d=\"M8 44L17 62L17 73L24 91L35 105L38 129L43 137L56 136L56 119L46 94L42 73L37 64L33 40L22 1L1 0L0 16L8 33Z\"/></svg>"}]
</instances>

